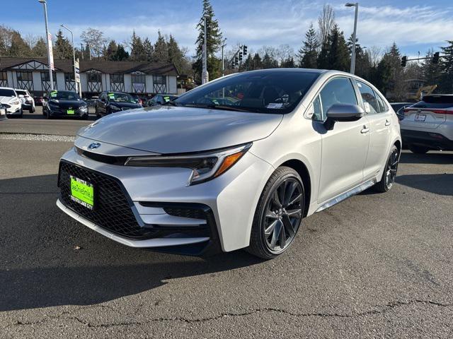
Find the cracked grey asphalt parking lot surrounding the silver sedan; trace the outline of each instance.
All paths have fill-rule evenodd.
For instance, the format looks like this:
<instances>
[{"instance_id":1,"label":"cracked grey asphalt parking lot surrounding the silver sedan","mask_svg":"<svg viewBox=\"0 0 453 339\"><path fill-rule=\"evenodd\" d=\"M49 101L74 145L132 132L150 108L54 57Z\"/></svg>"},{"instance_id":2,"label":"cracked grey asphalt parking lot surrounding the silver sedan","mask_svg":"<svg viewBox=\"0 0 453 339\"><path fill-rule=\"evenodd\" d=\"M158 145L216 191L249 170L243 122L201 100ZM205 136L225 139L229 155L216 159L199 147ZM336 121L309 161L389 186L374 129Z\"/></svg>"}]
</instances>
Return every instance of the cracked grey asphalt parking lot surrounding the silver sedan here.
<instances>
[{"instance_id":1,"label":"cracked grey asphalt parking lot surrounding the silver sedan","mask_svg":"<svg viewBox=\"0 0 453 339\"><path fill-rule=\"evenodd\" d=\"M55 206L59 157L89 122L0 121L0 338L452 338L453 153L404 151L391 191L306 218L273 261L194 258Z\"/></svg>"}]
</instances>

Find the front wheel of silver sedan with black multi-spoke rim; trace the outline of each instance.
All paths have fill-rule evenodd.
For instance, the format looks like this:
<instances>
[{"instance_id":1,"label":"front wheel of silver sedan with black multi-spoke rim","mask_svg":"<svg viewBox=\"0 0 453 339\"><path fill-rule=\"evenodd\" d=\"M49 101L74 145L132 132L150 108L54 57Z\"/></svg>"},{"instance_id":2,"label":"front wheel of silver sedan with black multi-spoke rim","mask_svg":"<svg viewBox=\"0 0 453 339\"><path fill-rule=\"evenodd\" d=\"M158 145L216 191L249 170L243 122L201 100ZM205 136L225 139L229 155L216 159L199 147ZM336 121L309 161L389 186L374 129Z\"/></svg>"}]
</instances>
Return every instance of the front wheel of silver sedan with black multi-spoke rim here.
<instances>
[{"instance_id":1,"label":"front wheel of silver sedan with black multi-spoke rim","mask_svg":"<svg viewBox=\"0 0 453 339\"><path fill-rule=\"evenodd\" d=\"M301 225L304 203L304 184L299 174L290 167L277 168L258 201L246 251L264 259L285 252Z\"/></svg>"}]
</instances>

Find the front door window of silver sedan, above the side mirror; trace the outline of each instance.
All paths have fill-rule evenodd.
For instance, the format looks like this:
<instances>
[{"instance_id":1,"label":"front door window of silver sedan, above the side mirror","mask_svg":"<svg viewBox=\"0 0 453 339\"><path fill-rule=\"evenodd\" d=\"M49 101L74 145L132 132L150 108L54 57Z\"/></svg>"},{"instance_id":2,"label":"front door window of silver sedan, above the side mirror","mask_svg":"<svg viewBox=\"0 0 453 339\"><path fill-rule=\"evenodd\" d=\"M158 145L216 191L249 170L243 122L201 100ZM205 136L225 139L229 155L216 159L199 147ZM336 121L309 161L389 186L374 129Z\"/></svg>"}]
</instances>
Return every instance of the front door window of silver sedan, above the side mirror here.
<instances>
[{"instance_id":1,"label":"front door window of silver sedan, above the side mirror","mask_svg":"<svg viewBox=\"0 0 453 339\"><path fill-rule=\"evenodd\" d=\"M321 90L321 107L323 119L329 108L335 104L357 105L357 97L354 88L348 78L334 78Z\"/></svg>"}]
</instances>

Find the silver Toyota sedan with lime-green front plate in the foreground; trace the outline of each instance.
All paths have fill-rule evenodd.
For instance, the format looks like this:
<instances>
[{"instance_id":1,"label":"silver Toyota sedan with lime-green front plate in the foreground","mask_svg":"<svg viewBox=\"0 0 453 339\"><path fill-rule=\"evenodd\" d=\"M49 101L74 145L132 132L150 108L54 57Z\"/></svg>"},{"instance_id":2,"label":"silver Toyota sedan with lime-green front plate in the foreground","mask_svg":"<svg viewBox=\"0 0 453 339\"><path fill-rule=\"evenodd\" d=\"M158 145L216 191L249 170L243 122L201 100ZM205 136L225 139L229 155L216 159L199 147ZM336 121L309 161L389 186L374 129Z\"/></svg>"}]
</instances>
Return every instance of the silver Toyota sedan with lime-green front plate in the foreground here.
<instances>
[{"instance_id":1,"label":"silver Toyota sedan with lime-green front plate in the foreground","mask_svg":"<svg viewBox=\"0 0 453 339\"><path fill-rule=\"evenodd\" d=\"M367 81L267 69L211 81L152 114L110 114L74 144L59 164L57 206L92 230L132 247L273 258L302 218L391 189L401 136ZM367 222L360 210L354 218Z\"/></svg>"}]
</instances>

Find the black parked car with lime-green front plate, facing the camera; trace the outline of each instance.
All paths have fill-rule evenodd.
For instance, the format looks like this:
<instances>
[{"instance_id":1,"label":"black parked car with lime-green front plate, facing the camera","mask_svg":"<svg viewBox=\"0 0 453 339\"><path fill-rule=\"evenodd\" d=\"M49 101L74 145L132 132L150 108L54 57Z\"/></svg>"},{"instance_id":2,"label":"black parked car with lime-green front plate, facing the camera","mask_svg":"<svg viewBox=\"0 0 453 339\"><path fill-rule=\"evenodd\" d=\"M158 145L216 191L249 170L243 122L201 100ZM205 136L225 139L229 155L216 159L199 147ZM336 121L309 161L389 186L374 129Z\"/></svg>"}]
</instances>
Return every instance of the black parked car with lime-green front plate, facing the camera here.
<instances>
[{"instance_id":1,"label":"black parked car with lime-green front plate, facing the camera","mask_svg":"<svg viewBox=\"0 0 453 339\"><path fill-rule=\"evenodd\" d=\"M42 114L53 117L79 117L88 119L88 105L70 90L51 90L42 102Z\"/></svg>"}]
</instances>

